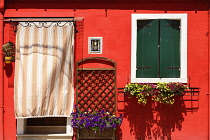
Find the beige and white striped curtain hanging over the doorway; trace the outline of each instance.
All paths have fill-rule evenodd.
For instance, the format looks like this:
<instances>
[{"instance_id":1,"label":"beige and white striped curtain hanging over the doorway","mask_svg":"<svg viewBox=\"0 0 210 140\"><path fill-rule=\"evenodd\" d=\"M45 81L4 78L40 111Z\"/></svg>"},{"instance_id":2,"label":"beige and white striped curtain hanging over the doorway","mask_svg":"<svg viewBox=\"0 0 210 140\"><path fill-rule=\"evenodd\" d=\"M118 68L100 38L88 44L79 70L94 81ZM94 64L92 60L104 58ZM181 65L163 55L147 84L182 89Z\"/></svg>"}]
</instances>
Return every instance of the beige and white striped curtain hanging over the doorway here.
<instances>
[{"instance_id":1,"label":"beige and white striped curtain hanging over the doorway","mask_svg":"<svg viewBox=\"0 0 210 140\"><path fill-rule=\"evenodd\" d=\"M15 59L16 118L69 117L73 110L74 25L18 25Z\"/></svg>"}]
</instances>

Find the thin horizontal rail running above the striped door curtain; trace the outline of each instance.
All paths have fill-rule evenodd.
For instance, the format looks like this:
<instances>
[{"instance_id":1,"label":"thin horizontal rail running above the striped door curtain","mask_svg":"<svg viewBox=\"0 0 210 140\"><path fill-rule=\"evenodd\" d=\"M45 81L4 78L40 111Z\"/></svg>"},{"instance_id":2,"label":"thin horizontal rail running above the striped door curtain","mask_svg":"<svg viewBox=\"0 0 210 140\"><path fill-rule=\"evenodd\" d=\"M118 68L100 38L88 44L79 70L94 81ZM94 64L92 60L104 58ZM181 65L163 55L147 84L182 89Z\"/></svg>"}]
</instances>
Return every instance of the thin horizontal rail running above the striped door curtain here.
<instances>
[{"instance_id":1,"label":"thin horizontal rail running above the striped door curtain","mask_svg":"<svg viewBox=\"0 0 210 140\"><path fill-rule=\"evenodd\" d=\"M39 22L39 21L82 21L84 18L83 17L73 17L73 18L7 18L4 21L9 21L9 22Z\"/></svg>"}]
</instances>

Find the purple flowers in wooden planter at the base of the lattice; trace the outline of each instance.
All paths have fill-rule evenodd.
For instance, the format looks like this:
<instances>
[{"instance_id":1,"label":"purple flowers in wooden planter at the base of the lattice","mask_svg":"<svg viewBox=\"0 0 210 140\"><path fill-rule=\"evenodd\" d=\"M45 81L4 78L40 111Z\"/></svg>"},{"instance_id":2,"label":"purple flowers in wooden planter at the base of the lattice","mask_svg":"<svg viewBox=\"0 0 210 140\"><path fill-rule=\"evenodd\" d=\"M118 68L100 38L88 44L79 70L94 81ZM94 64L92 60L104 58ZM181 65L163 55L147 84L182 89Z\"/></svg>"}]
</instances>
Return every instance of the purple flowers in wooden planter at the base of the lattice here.
<instances>
[{"instance_id":1,"label":"purple flowers in wooden planter at the base of the lattice","mask_svg":"<svg viewBox=\"0 0 210 140\"><path fill-rule=\"evenodd\" d=\"M116 117L104 110L83 112L76 107L76 112L71 116L72 127L79 130L80 137L110 137L113 130L122 123L122 115Z\"/></svg>"}]
</instances>

